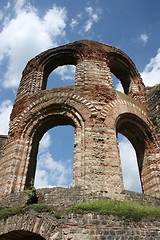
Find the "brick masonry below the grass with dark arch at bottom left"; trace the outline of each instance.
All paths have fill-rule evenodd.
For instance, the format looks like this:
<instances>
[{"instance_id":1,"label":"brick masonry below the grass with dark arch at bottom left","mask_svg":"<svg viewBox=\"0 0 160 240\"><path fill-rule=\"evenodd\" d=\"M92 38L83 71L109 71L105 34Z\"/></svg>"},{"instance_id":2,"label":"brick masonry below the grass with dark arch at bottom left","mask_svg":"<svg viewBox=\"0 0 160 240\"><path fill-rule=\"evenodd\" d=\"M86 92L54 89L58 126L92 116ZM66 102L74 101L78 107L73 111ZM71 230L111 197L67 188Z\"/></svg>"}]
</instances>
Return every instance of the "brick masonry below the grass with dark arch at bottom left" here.
<instances>
[{"instance_id":1,"label":"brick masonry below the grass with dark arch at bottom left","mask_svg":"<svg viewBox=\"0 0 160 240\"><path fill-rule=\"evenodd\" d=\"M91 213L69 214L61 219L27 212L0 221L0 239L46 240L156 240L160 237L159 220L143 219L140 222L115 216Z\"/></svg>"}]
</instances>

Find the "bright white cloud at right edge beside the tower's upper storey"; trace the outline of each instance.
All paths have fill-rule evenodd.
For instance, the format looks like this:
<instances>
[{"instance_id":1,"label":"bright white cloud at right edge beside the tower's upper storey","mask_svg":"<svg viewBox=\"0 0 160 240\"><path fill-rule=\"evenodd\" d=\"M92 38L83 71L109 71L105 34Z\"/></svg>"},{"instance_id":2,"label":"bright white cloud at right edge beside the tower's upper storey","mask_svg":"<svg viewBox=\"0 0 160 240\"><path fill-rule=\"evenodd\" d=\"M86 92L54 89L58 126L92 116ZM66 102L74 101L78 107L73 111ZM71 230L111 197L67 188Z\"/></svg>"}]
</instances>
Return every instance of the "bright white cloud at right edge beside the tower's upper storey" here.
<instances>
[{"instance_id":1,"label":"bright white cloud at right edge beside the tower's upper storey","mask_svg":"<svg viewBox=\"0 0 160 240\"><path fill-rule=\"evenodd\" d=\"M160 48L157 51L157 55L151 58L146 65L141 76L146 86L154 86L160 83Z\"/></svg>"}]
</instances>

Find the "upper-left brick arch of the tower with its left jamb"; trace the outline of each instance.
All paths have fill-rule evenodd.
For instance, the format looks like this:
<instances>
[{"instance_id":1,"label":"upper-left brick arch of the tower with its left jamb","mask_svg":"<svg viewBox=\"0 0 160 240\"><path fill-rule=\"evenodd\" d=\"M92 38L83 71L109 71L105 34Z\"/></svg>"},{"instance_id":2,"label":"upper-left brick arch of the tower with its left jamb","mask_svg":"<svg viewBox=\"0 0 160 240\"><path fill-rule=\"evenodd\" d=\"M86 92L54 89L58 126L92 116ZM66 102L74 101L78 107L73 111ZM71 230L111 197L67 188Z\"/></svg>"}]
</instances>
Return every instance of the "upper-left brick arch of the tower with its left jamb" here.
<instances>
[{"instance_id":1,"label":"upper-left brick arch of the tower with its left jamb","mask_svg":"<svg viewBox=\"0 0 160 240\"><path fill-rule=\"evenodd\" d=\"M45 89L48 75L57 67L68 64L76 66L81 59L83 59L83 54L76 49L74 44L66 44L37 55L28 62L23 71L17 100ZM27 91L24 90L25 86L27 86Z\"/></svg>"}]
</instances>

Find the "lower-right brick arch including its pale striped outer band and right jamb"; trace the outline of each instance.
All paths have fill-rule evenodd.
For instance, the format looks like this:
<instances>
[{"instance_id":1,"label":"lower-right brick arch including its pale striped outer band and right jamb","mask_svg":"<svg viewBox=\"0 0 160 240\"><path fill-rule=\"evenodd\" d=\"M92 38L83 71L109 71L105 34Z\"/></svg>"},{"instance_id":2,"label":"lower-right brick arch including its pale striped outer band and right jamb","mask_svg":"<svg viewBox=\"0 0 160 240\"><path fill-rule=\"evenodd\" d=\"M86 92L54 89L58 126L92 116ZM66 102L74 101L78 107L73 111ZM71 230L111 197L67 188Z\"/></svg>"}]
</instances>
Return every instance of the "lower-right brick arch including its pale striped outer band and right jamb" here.
<instances>
[{"instance_id":1,"label":"lower-right brick arch including its pale striped outer band and right jamb","mask_svg":"<svg viewBox=\"0 0 160 240\"><path fill-rule=\"evenodd\" d=\"M104 119L106 127L114 129L115 134L119 131L130 140L137 153L143 191L145 194L154 195L155 189L159 188L159 147L155 138L155 127L143 105L122 93L117 94L118 99L104 107L100 117Z\"/></svg>"}]
</instances>

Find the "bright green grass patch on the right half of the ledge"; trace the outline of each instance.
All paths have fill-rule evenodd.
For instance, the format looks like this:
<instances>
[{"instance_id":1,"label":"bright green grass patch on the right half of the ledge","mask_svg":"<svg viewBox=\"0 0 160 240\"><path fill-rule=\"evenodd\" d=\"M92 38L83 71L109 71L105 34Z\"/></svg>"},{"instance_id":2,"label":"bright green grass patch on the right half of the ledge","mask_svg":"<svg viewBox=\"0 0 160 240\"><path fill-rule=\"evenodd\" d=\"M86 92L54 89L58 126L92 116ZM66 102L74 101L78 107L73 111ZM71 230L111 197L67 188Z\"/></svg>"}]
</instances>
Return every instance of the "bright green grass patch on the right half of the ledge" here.
<instances>
[{"instance_id":1,"label":"bright green grass patch on the right half of the ledge","mask_svg":"<svg viewBox=\"0 0 160 240\"><path fill-rule=\"evenodd\" d=\"M123 202L111 200L92 200L76 204L67 210L75 213L95 213L103 215L115 215L133 220L141 220L143 217L160 217L160 208L140 202Z\"/></svg>"}]
</instances>

